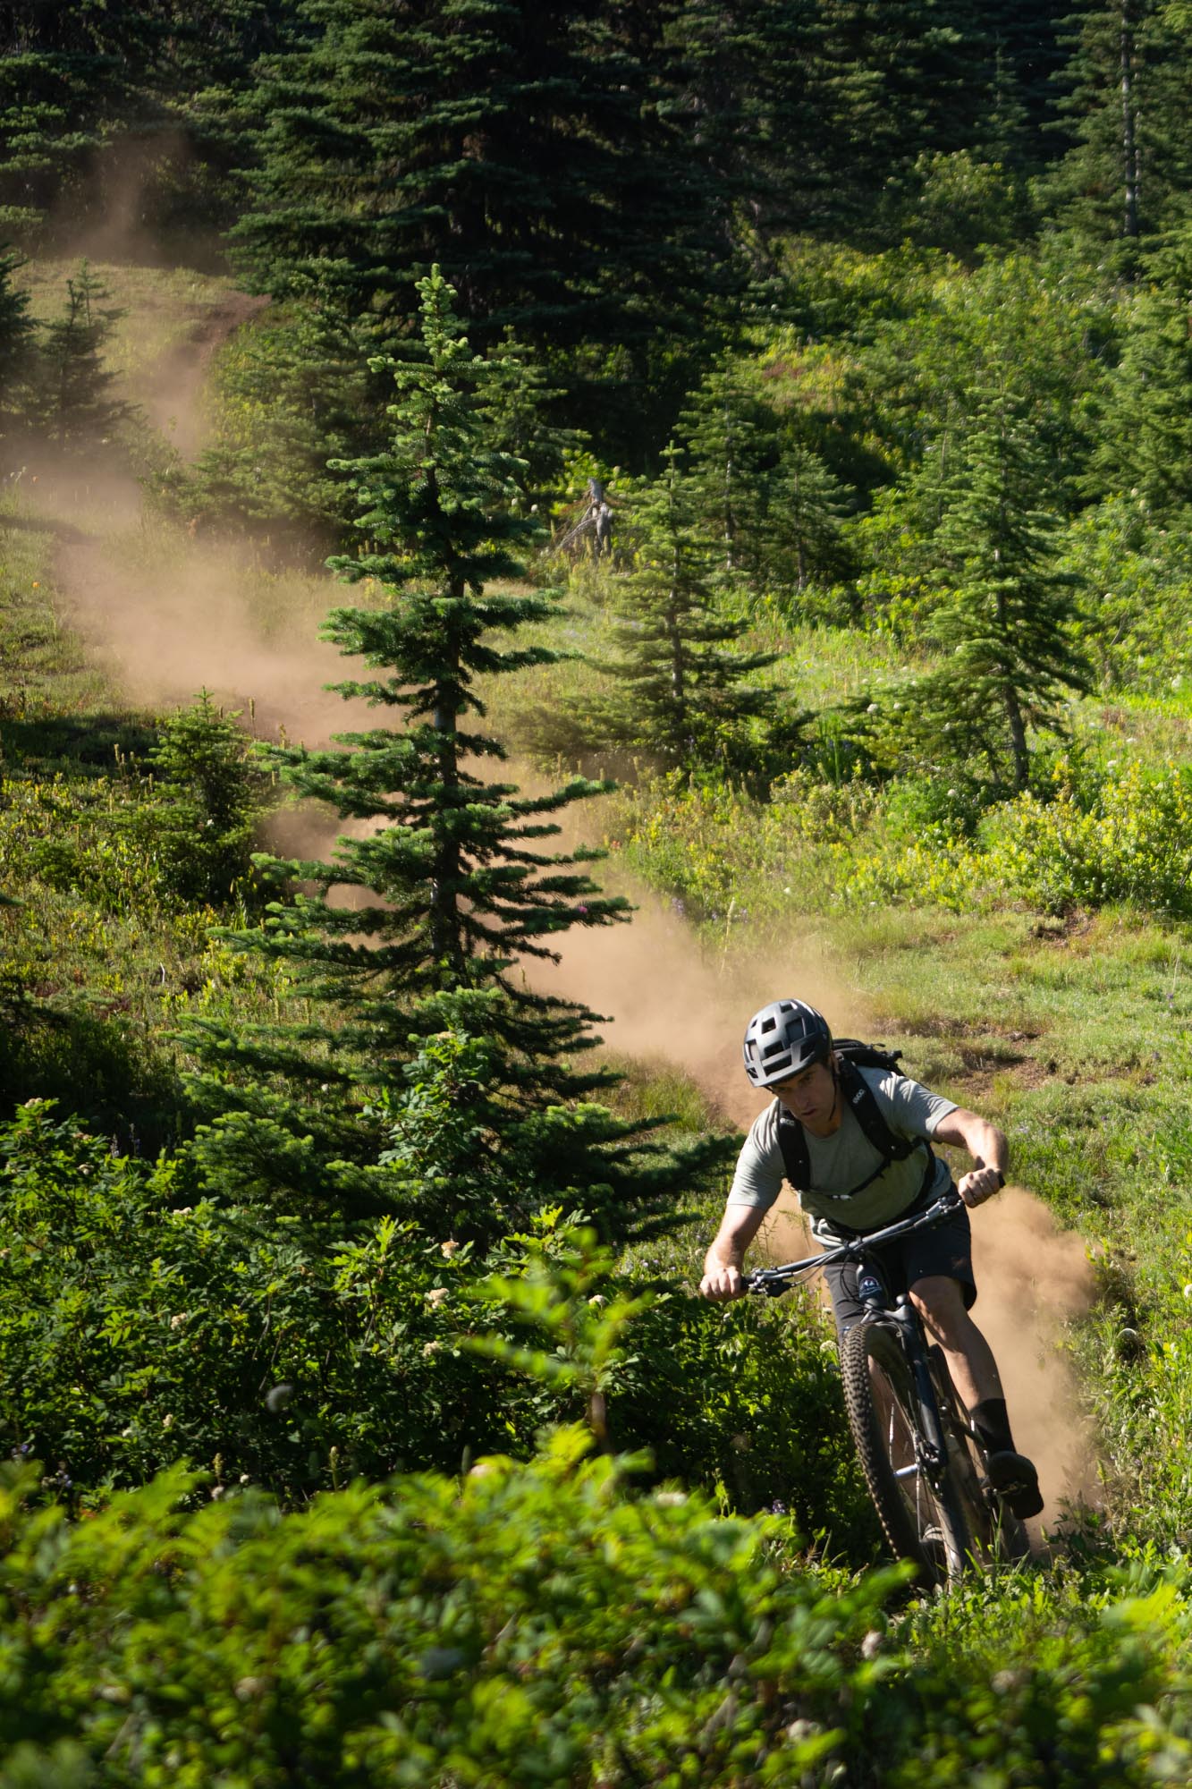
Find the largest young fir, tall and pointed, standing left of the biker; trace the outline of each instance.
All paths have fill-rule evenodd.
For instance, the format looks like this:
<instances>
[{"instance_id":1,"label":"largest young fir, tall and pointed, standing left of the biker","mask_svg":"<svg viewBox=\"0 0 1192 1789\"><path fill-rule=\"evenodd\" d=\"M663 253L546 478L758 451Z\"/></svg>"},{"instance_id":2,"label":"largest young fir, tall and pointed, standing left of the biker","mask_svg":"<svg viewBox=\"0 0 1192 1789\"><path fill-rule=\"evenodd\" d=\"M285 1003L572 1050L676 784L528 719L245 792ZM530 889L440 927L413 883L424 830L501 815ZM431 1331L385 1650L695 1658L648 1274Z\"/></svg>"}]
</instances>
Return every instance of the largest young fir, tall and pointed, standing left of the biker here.
<instances>
[{"instance_id":1,"label":"largest young fir, tall and pointed, standing left of the biker","mask_svg":"<svg viewBox=\"0 0 1192 1789\"><path fill-rule=\"evenodd\" d=\"M515 973L526 957L551 957L560 932L623 918L626 903L589 880L600 853L542 848L558 834L555 816L607 784L575 778L523 796L481 775L505 753L471 725L483 716L476 680L549 664L555 653L517 635L555 605L485 589L521 574L517 547L535 526L510 501L514 463L485 440L480 394L492 367L460 336L438 270L419 293L422 352L392 367L392 447L353 467L365 547L333 560L347 581L374 581L385 601L333 610L326 624L372 673L340 692L392 719L338 735L338 750L268 755L297 796L328 803L354 830L331 861L272 861L267 868L299 878L299 889L272 903L261 930L226 934L233 950L288 977L310 1016L254 1032L190 1027L204 1061L193 1097L213 1120L197 1150L218 1184L251 1197L347 1213L404 1199L410 1209L390 1172L394 1152L390 1163L379 1156L388 1131L408 1134L412 1104L428 1097L417 1075L410 1084L412 1057L447 1030L480 1039L487 1066L460 1088L442 1159L474 1149L492 1204L438 1175L440 1234L456 1225L492 1240L560 1199L625 1234L723 1145L700 1145L678 1165L655 1161L603 1107L571 1109L610 1081L575 1066L596 1041L592 1014L526 991ZM351 891L351 905L331 898L333 887ZM485 1154L505 1163L508 1150L515 1202L508 1174L483 1174Z\"/></svg>"}]
</instances>

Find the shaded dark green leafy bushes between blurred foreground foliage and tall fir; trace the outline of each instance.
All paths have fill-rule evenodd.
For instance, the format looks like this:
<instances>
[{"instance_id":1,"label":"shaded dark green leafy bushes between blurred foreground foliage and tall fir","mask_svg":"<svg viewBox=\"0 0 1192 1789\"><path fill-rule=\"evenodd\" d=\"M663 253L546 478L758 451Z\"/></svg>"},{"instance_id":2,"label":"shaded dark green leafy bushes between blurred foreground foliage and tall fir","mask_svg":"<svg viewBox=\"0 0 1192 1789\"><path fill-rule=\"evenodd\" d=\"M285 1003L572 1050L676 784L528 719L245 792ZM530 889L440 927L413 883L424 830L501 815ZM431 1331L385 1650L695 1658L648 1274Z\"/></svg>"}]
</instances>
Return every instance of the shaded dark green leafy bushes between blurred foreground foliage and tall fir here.
<instances>
[{"instance_id":1,"label":"shaded dark green leafy bushes between blurred foreground foliage and tall fir","mask_svg":"<svg viewBox=\"0 0 1192 1789\"><path fill-rule=\"evenodd\" d=\"M503 1247L494 1292L430 1213L338 1240L202 1197L186 1157L116 1157L39 1102L0 1127L0 1435L47 1462L48 1490L86 1501L179 1460L295 1499L451 1469L465 1449L528 1453L585 1394L526 1376L517 1351L553 1351L546 1318L576 1299L596 1311L641 1293L558 1211ZM804 1533L868 1558L832 1361L811 1302L725 1313L668 1288L617 1356L609 1431L664 1474L721 1481L745 1508L789 1505Z\"/></svg>"}]
</instances>

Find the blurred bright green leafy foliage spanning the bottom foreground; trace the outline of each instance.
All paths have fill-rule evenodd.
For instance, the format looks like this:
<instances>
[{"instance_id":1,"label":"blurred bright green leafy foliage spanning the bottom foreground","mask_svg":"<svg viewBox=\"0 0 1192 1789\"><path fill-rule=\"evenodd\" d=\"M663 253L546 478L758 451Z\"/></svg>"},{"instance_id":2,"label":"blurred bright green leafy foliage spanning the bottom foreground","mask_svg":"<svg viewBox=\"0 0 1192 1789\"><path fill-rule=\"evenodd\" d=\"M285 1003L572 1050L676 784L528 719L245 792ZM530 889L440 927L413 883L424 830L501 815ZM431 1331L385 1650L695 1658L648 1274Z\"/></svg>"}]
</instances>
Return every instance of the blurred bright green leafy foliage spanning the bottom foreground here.
<instances>
[{"instance_id":1,"label":"blurred bright green leafy foliage spanning the bottom foreground","mask_svg":"<svg viewBox=\"0 0 1192 1789\"><path fill-rule=\"evenodd\" d=\"M290 1515L195 1510L175 1472L72 1526L27 1487L0 1487L13 1789L1187 1780L1181 1564L891 1621L900 1569L784 1567L782 1519L635 1492L575 1428Z\"/></svg>"}]
</instances>

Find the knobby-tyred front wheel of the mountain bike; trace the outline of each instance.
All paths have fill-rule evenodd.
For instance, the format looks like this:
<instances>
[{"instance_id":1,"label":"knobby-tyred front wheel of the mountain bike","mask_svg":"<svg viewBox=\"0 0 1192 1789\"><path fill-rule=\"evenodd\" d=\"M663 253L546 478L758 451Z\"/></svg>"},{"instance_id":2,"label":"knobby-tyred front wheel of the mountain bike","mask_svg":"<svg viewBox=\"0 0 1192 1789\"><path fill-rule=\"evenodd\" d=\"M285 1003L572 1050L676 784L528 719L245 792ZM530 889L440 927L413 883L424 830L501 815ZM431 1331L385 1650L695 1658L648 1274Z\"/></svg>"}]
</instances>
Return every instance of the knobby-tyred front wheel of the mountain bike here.
<instances>
[{"instance_id":1,"label":"knobby-tyred front wheel of the mountain bike","mask_svg":"<svg viewBox=\"0 0 1192 1789\"><path fill-rule=\"evenodd\" d=\"M920 1583L958 1578L970 1562L965 1513L947 1472L927 1462L918 1401L897 1331L859 1322L841 1342L848 1426L886 1540Z\"/></svg>"}]
</instances>

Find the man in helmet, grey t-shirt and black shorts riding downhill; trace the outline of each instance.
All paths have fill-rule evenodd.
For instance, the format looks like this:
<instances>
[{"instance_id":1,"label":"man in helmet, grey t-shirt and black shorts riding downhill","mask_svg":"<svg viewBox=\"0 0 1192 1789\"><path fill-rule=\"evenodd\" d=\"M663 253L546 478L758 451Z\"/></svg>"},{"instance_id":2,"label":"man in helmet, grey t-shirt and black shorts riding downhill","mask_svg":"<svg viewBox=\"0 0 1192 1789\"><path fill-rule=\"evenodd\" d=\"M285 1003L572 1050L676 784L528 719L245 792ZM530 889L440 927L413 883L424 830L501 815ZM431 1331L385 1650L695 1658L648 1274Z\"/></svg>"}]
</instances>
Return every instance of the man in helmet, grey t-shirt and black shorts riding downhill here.
<instances>
[{"instance_id":1,"label":"man in helmet, grey t-shirt and black shorts riding downhill","mask_svg":"<svg viewBox=\"0 0 1192 1789\"><path fill-rule=\"evenodd\" d=\"M798 1132L796 1159L804 1166L796 1172L805 1181L795 1191L813 1236L827 1247L909 1217L952 1186L932 1140L966 1149L974 1166L956 1188L961 1209L932 1229L888 1243L879 1256L891 1293L909 1293L929 1340L943 1349L968 1420L988 1451L993 1490L1015 1515L1038 1515L1043 1506L1038 1474L1015 1449L993 1352L968 1315L977 1286L965 1206L983 1204L1006 1184L1006 1138L977 1113L931 1093L897 1068L848 1064L845 1086L829 1023L804 1000L775 1000L754 1014L745 1032L745 1072L775 1098L754 1120L737 1157L700 1292L716 1301L743 1295L745 1251L789 1177L791 1131ZM864 1125L857 1118L861 1100ZM870 1118L873 1102L879 1116ZM890 1138L886 1149L873 1141L875 1129ZM864 1315L857 1268L834 1263L825 1277L843 1335Z\"/></svg>"}]
</instances>

